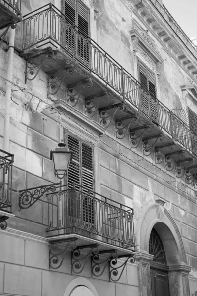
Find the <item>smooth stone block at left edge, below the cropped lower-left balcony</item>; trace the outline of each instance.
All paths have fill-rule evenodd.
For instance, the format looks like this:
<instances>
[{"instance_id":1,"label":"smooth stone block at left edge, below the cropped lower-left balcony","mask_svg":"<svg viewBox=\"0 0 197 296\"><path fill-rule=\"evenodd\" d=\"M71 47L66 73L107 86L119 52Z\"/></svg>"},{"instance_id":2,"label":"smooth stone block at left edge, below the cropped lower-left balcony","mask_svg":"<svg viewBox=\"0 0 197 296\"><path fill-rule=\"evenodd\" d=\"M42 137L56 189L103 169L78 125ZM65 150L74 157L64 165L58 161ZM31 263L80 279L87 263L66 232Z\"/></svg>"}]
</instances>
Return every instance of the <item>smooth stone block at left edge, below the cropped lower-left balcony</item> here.
<instances>
[{"instance_id":1,"label":"smooth stone block at left edge, below the cropped lower-left balcony","mask_svg":"<svg viewBox=\"0 0 197 296\"><path fill-rule=\"evenodd\" d=\"M23 265L24 240L1 232L0 241L0 261Z\"/></svg>"}]
</instances>

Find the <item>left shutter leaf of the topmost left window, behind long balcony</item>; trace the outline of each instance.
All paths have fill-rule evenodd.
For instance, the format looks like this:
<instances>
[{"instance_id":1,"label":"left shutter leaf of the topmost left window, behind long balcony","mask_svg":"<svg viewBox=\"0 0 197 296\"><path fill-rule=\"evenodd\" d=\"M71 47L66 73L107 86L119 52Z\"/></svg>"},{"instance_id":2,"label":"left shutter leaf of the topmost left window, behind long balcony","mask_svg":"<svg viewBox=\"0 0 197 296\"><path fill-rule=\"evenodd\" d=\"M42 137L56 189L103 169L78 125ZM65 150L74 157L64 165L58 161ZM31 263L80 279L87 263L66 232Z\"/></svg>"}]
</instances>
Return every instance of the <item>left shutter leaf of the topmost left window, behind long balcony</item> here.
<instances>
[{"instance_id":1,"label":"left shutter leaf of the topmost left window, behind long balcony","mask_svg":"<svg viewBox=\"0 0 197 296\"><path fill-rule=\"evenodd\" d=\"M64 14L66 23L73 26L76 25L76 0L64 0ZM76 34L71 26L65 26L63 28L65 36L64 46L68 49L71 54L76 53Z\"/></svg>"}]
</instances>

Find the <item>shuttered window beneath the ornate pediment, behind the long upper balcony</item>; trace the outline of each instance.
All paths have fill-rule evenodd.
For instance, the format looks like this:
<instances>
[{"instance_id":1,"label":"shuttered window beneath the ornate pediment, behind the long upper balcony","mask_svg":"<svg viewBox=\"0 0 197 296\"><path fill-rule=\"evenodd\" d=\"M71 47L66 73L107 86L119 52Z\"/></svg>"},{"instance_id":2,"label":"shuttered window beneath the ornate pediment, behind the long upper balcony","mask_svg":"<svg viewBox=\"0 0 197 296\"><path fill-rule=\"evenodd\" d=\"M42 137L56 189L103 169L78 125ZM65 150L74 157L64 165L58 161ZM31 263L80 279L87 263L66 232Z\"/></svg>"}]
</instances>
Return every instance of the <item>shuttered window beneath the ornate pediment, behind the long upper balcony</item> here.
<instances>
[{"instance_id":1,"label":"shuttered window beneath the ornate pediment, behind the long upper balcony","mask_svg":"<svg viewBox=\"0 0 197 296\"><path fill-rule=\"evenodd\" d=\"M158 104L155 74L138 59L139 80L142 85L141 109L154 122L158 122ZM148 93L147 93L148 92Z\"/></svg>"}]
</instances>

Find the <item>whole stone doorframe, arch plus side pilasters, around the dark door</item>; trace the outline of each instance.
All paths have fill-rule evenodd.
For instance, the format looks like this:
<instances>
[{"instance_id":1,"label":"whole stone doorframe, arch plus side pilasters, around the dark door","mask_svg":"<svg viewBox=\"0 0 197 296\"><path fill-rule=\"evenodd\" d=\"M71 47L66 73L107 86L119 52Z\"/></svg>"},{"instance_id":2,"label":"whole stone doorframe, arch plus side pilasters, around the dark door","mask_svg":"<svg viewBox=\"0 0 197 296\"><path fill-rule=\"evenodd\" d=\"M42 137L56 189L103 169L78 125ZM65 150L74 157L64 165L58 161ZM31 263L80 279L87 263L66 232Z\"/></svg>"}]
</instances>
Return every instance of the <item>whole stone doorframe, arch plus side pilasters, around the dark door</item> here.
<instances>
[{"instance_id":1,"label":"whole stone doorframe, arch plus side pilasters, around the dark door","mask_svg":"<svg viewBox=\"0 0 197 296\"><path fill-rule=\"evenodd\" d=\"M149 254L149 238L152 228L158 232L165 249L167 264L169 266L170 296L190 296L189 272L185 250L178 227L164 208L164 200L158 199L156 203L149 203L140 215L137 231L137 254L139 279L139 296L152 296L150 279L150 262L153 255Z\"/></svg>"}]
</instances>

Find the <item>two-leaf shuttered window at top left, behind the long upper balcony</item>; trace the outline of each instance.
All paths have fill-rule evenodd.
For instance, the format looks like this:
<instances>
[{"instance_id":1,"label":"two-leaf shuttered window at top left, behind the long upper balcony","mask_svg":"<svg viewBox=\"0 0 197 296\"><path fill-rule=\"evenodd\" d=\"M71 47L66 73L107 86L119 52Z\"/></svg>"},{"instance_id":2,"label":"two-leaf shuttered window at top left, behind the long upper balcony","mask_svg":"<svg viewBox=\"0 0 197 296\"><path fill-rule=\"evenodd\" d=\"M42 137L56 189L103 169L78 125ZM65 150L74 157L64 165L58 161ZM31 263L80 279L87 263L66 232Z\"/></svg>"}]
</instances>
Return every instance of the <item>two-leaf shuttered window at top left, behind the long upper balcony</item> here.
<instances>
[{"instance_id":1,"label":"two-leaf shuttered window at top left, behind the long upper balcony","mask_svg":"<svg viewBox=\"0 0 197 296\"><path fill-rule=\"evenodd\" d=\"M88 64L90 10L80 0L62 0L62 12L66 23L71 24L63 29L66 49L72 55L77 55L81 62Z\"/></svg>"}]
</instances>

